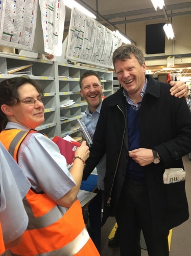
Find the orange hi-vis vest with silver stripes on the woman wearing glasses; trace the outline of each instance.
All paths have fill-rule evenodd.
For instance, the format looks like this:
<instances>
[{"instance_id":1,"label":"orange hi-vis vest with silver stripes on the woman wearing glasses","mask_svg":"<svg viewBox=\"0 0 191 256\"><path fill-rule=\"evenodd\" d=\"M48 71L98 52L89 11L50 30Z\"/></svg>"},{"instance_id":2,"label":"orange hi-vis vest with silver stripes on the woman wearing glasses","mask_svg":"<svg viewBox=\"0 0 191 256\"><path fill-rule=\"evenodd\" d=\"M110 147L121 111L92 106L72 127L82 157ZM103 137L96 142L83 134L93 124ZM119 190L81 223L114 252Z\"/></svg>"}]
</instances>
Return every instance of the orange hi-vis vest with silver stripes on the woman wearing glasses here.
<instances>
[{"instance_id":1,"label":"orange hi-vis vest with silver stripes on the woman wearing glasses","mask_svg":"<svg viewBox=\"0 0 191 256\"><path fill-rule=\"evenodd\" d=\"M31 132L38 131L5 129L0 133L0 141L17 163L19 147ZM85 227L79 200L65 208L57 205L44 192L37 192L31 187L23 204L29 216L29 224L19 245L11 249L14 255L100 255Z\"/></svg>"}]
</instances>

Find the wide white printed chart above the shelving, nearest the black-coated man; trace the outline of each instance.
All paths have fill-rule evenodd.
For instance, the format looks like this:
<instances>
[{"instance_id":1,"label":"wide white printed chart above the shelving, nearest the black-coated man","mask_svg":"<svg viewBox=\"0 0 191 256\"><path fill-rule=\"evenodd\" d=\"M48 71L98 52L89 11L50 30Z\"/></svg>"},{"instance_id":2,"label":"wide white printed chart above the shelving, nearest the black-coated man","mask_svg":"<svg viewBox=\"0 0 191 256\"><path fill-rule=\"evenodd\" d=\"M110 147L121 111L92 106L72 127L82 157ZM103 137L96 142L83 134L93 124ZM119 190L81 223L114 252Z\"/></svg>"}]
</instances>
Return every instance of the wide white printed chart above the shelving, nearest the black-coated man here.
<instances>
[{"instance_id":1,"label":"wide white printed chart above the shelving, nearest the black-coated man","mask_svg":"<svg viewBox=\"0 0 191 256\"><path fill-rule=\"evenodd\" d=\"M112 53L121 45L122 40L111 30L73 8L66 58L76 62L111 67Z\"/></svg>"}]
</instances>

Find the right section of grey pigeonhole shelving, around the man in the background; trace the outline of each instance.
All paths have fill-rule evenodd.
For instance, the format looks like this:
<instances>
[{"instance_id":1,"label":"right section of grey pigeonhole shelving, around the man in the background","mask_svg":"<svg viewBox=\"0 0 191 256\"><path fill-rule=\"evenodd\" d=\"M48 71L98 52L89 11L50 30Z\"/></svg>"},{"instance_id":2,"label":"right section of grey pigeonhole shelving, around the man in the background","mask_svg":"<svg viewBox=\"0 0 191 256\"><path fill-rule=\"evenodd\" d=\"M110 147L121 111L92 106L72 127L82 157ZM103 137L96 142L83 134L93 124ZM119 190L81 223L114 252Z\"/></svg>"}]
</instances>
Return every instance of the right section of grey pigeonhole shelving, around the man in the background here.
<instances>
[{"instance_id":1,"label":"right section of grey pigeonhole shelving, around the man in the background","mask_svg":"<svg viewBox=\"0 0 191 256\"><path fill-rule=\"evenodd\" d=\"M73 131L71 127L78 126L77 120L82 118L82 112L84 112L87 107L87 102L84 102L80 94L80 76L87 70L96 72L101 77L103 96L107 97L113 93L113 72L101 68L89 68L65 63L56 63L55 65L58 66L58 68L56 68L58 70L59 84L58 102L64 100L75 101L74 105L60 108L60 115L68 116L68 120L60 122L61 136L72 134L72 136L79 137L81 136L80 129Z\"/></svg>"}]
</instances>

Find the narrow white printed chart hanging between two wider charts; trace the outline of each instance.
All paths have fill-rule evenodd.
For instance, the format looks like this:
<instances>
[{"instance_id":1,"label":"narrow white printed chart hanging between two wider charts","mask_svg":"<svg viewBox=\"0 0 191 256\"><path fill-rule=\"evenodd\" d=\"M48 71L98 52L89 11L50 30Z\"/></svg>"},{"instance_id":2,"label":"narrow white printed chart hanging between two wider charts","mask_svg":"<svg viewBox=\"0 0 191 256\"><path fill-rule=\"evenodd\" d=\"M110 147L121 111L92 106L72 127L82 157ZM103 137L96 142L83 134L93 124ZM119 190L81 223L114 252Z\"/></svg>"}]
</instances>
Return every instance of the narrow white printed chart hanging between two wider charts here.
<instances>
[{"instance_id":1,"label":"narrow white printed chart hanging between two wider charts","mask_svg":"<svg viewBox=\"0 0 191 256\"><path fill-rule=\"evenodd\" d=\"M63 0L39 0L44 51L55 56L62 55L62 38L65 21Z\"/></svg>"}]
</instances>

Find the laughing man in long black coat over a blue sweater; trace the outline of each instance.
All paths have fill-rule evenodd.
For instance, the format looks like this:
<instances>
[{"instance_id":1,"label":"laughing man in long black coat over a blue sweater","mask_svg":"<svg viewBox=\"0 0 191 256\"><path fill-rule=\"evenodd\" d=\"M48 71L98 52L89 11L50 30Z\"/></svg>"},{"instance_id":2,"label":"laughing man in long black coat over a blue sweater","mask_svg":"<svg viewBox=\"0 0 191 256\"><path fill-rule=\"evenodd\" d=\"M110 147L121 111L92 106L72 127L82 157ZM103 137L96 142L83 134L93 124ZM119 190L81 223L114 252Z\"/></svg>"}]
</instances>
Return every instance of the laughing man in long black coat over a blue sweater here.
<instances>
[{"instance_id":1,"label":"laughing man in long black coat over a blue sweater","mask_svg":"<svg viewBox=\"0 0 191 256\"><path fill-rule=\"evenodd\" d=\"M145 75L144 54L117 48L113 64L122 85L107 97L86 161L86 179L106 152L103 220L117 215L122 256L140 256L142 229L149 256L169 255L169 230L188 219L185 181L163 184L166 168L183 168L191 150L191 114L170 85Z\"/></svg>"}]
</instances>

